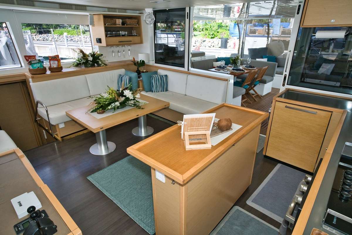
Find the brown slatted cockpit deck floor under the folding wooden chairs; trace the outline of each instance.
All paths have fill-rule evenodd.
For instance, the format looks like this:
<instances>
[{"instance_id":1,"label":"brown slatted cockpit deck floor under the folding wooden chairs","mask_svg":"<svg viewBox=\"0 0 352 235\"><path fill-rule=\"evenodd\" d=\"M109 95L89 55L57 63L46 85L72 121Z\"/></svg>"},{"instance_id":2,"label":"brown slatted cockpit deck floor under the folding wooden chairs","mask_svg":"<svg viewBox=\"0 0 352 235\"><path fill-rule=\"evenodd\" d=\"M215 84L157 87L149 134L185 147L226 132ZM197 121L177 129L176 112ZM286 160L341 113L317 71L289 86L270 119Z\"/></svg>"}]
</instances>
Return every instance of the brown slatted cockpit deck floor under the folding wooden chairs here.
<instances>
[{"instance_id":1,"label":"brown slatted cockpit deck floor under the folding wooden chairs","mask_svg":"<svg viewBox=\"0 0 352 235\"><path fill-rule=\"evenodd\" d=\"M269 109L270 109L271 104L272 104L272 99L279 92L280 92L280 89L271 88L271 92L269 92L268 94L263 95L262 99L258 99L258 97L256 97L256 99L258 101L254 101L252 98L249 98L252 101L253 104L249 103L248 101L245 101L244 104L246 105L247 108L250 108L250 109L255 109L255 110L259 110L259 111L269 112ZM247 97L249 97L249 95L247 95ZM242 99L244 99L244 97L242 97ZM260 134L262 134L262 135L266 135L266 130L268 130L268 120L269 119L266 119L262 123L262 126L260 128Z\"/></svg>"}]
</instances>

